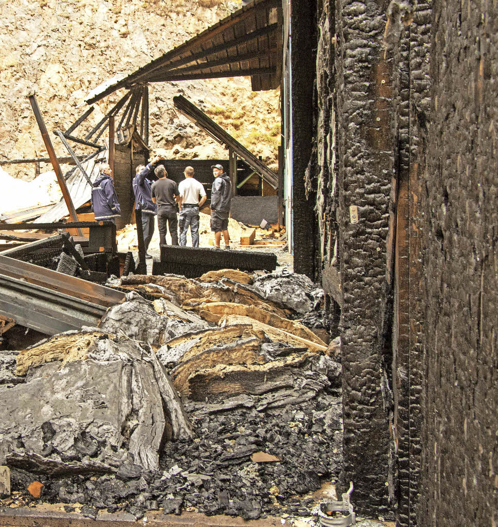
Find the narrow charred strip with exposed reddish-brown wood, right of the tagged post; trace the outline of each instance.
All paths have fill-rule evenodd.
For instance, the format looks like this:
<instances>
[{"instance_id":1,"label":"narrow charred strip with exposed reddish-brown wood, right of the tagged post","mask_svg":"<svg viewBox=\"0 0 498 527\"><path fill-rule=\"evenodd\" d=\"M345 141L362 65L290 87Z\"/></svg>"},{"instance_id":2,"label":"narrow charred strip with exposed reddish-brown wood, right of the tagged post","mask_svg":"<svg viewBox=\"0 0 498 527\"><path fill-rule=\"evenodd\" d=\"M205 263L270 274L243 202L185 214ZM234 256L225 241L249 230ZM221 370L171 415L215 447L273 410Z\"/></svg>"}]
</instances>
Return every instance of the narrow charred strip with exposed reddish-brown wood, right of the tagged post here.
<instances>
[{"instance_id":1,"label":"narrow charred strip with exposed reddish-brown wood, right of the tagged post","mask_svg":"<svg viewBox=\"0 0 498 527\"><path fill-rule=\"evenodd\" d=\"M415 526L420 500L421 393L424 382L422 176L426 167L427 119L430 112L429 46L432 3L402 4L391 9L396 42L390 45L393 67L393 136L396 190L393 229L392 386L394 440L397 445L397 509L401 526ZM403 24L403 16L405 24ZM410 22L411 21L411 22ZM386 40L392 42L392 35ZM387 280L386 280L387 281Z\"/></svg>"}]
</instances>

